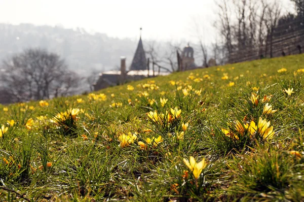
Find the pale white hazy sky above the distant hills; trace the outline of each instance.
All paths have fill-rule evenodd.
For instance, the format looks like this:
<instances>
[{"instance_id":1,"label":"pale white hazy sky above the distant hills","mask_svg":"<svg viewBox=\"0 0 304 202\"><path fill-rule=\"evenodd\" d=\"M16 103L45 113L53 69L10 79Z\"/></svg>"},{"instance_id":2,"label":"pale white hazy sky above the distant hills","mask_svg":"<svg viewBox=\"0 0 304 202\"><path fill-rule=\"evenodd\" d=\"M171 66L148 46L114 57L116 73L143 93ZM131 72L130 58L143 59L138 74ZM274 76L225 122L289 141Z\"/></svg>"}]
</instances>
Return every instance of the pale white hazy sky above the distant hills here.
<instances>
[{"instance_id":1,"label":"pale white hazy sky above the distant hills","mask_svg":"<svg viewBox=\"0 0 304 202\"><path fill-rule=\"evenodd\" d=\"M220 0L218 0L220 1ZM269 0L271 1L271 0ZM282 0L284 10L292 7ZM0 22L82 27L111 37L195 43L199 24L204 41L212 41L217 17L214 0L0 0Z\"/></svg>"}]
</instances>

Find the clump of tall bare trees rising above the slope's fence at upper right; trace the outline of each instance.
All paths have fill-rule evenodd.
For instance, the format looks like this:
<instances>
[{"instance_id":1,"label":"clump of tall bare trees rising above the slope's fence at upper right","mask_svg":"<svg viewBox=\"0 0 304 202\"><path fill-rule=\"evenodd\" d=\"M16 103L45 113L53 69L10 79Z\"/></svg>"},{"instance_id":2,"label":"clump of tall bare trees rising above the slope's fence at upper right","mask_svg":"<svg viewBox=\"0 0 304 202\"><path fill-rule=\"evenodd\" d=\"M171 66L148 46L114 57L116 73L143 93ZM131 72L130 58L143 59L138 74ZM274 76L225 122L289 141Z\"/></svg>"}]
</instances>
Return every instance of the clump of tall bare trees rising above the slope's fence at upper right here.
<instances>
[{"instance_id":1,"label":"clump of tall bare trees rising above the slope's fence at upper right","mask_svg":"<svg viewBox=\"0 0 304 202\"><path fill-rule=\"evenodd\" d=\"M219 1L219 0L218 0ZM302 1L302 0L300 0ZM234 61L242 51L257 47L258 54L270 52L274 29L281 17L280 1L221 0L217 2L218 20L215 25L223 39L227 57ZM267 50L270 47L271 50ZM248 51L247 51L248 52Z\"/></svg>"}]
</instances>

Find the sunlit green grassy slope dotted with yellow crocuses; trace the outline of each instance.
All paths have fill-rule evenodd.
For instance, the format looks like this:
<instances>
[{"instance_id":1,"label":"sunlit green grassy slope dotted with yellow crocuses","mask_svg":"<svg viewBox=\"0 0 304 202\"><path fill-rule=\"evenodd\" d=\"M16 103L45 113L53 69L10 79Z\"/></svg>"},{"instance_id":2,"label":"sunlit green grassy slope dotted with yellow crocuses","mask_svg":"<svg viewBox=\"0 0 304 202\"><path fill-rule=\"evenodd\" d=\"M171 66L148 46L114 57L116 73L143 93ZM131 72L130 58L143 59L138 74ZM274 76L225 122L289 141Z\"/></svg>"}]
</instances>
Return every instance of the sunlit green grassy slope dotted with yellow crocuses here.
<instances>
[{"instance_id":1,"label":"sunlit green grassy slope dotted with yellow crocuses","mask_svg":"<svg viewBox=\"0 0 304 202\"><path fill-rule=\"evenodd\" d=\"M299 201L303 75L302 54L0 106L0 198Z\"/></svg>"}]
</instances>

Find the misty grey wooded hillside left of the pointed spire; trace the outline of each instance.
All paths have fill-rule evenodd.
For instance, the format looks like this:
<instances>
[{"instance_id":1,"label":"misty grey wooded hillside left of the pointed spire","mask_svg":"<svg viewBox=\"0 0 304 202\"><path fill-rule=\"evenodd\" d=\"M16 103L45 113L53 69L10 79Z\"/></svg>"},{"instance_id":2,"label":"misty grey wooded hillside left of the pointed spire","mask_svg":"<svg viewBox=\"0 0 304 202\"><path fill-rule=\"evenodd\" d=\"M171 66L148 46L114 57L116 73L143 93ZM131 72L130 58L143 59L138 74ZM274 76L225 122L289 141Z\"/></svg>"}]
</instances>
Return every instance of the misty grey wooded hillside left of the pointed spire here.
<instances>
[{"instance_id":1,"label":"misty grey wooded hillside left of the pointed spire","mask_svg":"<svg viewBox=\"0 0 304 202\"><path fill-rule=\"evenodd\" d=\"M84 29L60 26L11 25L0 23L0 60L25 48L41 47L66 59L69 68L82 75L91 70L106 71L120 65L120 56L131 63L137 40L94 35Z\"/></svg>"}]
</instances>

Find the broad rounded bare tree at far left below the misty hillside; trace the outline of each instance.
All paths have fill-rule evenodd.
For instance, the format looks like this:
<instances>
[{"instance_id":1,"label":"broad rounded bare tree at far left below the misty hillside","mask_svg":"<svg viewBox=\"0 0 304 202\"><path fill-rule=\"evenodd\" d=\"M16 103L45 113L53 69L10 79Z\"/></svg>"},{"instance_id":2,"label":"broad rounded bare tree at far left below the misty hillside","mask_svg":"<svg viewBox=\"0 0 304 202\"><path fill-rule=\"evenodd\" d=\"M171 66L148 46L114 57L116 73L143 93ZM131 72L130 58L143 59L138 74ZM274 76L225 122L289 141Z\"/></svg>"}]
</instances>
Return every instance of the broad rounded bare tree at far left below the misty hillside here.
<instances>
[{"instance_id":1,"label":"broad rounded bare tree at far left below the misty hillside","mask_svg":"<svg viewBox=\"0 0 304 202\"><path fill-rule=\"evenodd\" d=\"M27 49L4 60L2 66L3 86L13 102L51 98L59 88L66 89L61 93L66 95L79 83L59 55L42 49Z\"/></svg>"}]
</instances>

